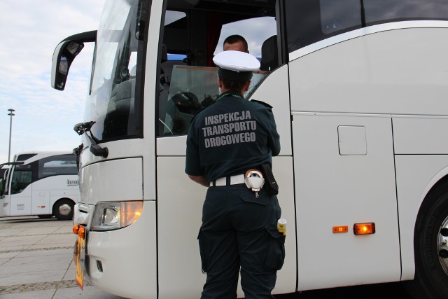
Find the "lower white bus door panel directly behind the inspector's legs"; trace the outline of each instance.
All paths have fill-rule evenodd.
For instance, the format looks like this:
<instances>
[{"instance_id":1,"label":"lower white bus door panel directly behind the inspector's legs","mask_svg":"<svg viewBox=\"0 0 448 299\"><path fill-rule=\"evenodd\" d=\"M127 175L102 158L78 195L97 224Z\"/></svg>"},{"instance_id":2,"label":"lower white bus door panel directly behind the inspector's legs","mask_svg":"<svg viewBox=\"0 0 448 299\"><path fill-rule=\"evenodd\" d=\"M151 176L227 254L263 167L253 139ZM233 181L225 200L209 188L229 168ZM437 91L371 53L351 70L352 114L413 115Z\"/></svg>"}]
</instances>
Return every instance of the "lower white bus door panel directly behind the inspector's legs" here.
<instances>
[{"instance_id":1,"label":"lower white bus door panel directly behind the inspector's legs","mask_svg":"<svg viewBox=\"0 0 448 299\"><path fill-rule=\"evenodd\" d=\"M207 188L185 174L185 157L158 158L158 256L160 298L200 298L206 275L201 272L197 234ZM273 172L279 181L281 216L288 222L286 260L277 272L274 293L295 291L295 225L293 161L274 157ZM289 224L290 223L290 224ZM173 288L173 286L176 286ZM239 286L239 297L244 293Z\"/></svg>"}]
</instances>

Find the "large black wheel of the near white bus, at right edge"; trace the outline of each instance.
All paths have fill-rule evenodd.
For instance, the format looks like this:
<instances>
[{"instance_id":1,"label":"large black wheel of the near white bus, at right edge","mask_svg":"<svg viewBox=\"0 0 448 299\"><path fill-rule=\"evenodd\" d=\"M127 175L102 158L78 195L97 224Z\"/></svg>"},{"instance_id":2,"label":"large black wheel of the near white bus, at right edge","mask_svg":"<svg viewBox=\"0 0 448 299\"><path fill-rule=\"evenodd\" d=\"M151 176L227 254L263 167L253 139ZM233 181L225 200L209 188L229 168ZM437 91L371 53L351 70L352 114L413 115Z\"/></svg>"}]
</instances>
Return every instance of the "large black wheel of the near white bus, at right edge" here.
<instances>
[{"instance_id":1,"label":"large black wheel of the near white bus, at right edge","mask_svg":"<svg viewBox=\"0 0 448 299\"><path fill-rule=\"evenodd\" d=\"M447 298L448 181L437 184L421 204L414 230L415 276L405 287L413 298Z\"/></svg>"}]
</instances>

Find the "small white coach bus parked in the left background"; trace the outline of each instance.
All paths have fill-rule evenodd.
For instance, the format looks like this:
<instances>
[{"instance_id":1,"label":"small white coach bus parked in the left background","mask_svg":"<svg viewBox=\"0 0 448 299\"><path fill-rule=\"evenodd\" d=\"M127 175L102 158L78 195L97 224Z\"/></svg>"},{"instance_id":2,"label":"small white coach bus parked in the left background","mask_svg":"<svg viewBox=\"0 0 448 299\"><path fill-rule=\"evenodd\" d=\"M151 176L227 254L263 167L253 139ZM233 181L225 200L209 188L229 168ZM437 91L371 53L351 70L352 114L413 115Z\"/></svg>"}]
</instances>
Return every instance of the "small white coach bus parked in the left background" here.
<instances>
[{"instance_id":1,"label":"small white coach bus parked in the left background","mask_svg":"<svg viewBox=\"0 0 448 299\"><path fill-rule=\"evenodd\" d=\"M3 180L4 216L73 218L80 198L76 155L66 152L19 153Z\"/></svg>"}]
</instances>

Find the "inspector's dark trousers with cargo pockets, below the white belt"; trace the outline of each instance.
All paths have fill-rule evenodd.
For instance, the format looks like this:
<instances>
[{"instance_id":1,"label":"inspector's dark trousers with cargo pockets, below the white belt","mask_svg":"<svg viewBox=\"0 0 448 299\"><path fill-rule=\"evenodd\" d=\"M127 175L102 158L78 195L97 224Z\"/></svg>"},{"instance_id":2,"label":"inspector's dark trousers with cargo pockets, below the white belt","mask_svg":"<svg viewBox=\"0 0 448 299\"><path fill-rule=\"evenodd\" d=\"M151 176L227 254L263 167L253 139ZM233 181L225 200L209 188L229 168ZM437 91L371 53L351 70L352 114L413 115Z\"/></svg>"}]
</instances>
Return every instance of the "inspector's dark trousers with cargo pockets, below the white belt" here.
<instances>
[{"instance_id":1,"label":"inspector's dark trousers with cargo pockets, below the white belt","mask_svg":"<svg viewBox=\"0 0 448 299\"><path fill-rule=\"evenodd\" d=\"M207 191L198 236L207 273L202 299L237 298L240 268L246 299L273 298L285 257L285 237L276 229L281 209L275 195L258 194L244 184Z\"/></svg>"}]
</instances>

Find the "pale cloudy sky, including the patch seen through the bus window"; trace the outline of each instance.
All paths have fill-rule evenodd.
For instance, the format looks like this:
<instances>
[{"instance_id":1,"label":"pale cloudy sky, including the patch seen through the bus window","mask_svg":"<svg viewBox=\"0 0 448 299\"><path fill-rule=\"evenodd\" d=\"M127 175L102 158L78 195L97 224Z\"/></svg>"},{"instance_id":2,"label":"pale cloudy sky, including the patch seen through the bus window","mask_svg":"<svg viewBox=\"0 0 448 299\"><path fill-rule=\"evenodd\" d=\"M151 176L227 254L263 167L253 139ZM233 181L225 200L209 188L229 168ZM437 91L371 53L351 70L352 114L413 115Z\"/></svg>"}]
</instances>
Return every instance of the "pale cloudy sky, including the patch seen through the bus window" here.
<instances>
[{"instance_id":1,"label":"pale cloudy sky, including the patch seen through the bus window","mask_svg":"<svg viewBox=\"0 0 448 299\"><path fill-rule=\"evenodd\" d=\"M71 151L80 144L73 125L84 120L93 46L87 43L71 64L62 92L50 86L51 60L62 39L97 29L103 5L104 0L0 1L0 163L8 162L8 109L15 109L11 160L22 151ZM262 41L275 34L275 21L226 25L217 52L230 34L245 36L251 54L259 56Z\"/></svg>"}]
</instances>

